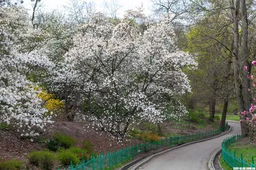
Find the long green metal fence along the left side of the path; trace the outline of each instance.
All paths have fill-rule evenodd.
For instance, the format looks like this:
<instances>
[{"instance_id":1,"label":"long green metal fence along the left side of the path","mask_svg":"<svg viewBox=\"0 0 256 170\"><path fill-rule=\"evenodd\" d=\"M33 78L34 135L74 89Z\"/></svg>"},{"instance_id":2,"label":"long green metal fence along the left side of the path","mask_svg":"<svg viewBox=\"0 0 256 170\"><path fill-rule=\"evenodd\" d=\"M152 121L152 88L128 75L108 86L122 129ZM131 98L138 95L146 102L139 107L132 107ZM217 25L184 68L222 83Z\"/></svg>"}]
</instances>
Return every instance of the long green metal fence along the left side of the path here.
<instances>
[{"instance_id":1,"label":"long green metal fence along the left side of the path","mask_svg":"<svg viewBox=\"0 0 256 170\"><path fill-rule=\"evenodd\" d=\"M227 130L227 128L228 124L226 123L225 130ZM87 161L82 160L80 164L77 165L73 165L71 162L68 170L111 169L111 167L116 166L116 164L120 164L125 160L131 159L138 155L138 153L149 152L150 150L156 150L158 148L170 147L181 143L187 143L189 141L207 138L209 136L219 134L220 132L222 132L221 128L216 131L200 132L196 134L175 136L173 138L165 138L155 142L140 143L139 145L133 145L115 152L108 152L106 154L100 153L97 157L91 157L91 159L88 159Z\"/></svg>"}]
</instances>

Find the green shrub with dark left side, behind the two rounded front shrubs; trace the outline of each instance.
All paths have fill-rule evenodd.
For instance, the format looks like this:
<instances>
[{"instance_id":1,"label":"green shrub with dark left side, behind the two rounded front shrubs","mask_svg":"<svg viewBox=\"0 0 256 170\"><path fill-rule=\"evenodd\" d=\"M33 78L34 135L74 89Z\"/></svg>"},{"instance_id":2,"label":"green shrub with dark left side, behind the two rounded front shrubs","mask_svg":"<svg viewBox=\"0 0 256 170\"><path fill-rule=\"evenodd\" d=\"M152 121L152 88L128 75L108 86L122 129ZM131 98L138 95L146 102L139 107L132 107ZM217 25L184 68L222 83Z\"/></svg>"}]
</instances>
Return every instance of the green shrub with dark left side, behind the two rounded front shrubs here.
<instances>
[{"instance_id":1,"label":"green shrub with dark left side, behind the two rounded front shrubs","mask_svg":"<svg viewBox=\"0 0 256 170\"><path fill-rule=\"evenodd\" d=\"M63 147L67 149L67 148L70 148L71 146L74 146L75 143L76 143L76 140L71 138L67 134L56 132L53 135L53 139L50 139L49 143L47 143L47 148L49 150L56 152L59 147Z\"/></svg>"}]
</instances>

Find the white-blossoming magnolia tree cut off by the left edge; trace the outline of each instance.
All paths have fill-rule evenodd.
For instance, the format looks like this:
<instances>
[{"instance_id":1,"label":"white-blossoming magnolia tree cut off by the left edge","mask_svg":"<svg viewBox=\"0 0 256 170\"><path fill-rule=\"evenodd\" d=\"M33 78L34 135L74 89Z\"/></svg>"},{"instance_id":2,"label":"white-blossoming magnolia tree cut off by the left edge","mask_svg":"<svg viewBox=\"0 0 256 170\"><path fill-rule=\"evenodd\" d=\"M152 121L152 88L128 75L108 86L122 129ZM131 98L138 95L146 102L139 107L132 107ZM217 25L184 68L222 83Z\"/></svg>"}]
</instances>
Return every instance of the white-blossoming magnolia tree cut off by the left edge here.
<instances>
[{"instance_id":1,"label":"white-blossoming magnolia tree cut off by the left edge","mask_svg":"<svg viewBox=\"0 0 256 170\"><path fill-rule=\"evenodd\" d=\"M40 90L26 80L26 75L34 68L53 64L42 50L32 47L29 40L38 38L40 32L29 27L28 22L23 8L0 8L0 130L5 127L21 136L36 136L52 121L36 97Z\"/></svg>"}]
</instances>

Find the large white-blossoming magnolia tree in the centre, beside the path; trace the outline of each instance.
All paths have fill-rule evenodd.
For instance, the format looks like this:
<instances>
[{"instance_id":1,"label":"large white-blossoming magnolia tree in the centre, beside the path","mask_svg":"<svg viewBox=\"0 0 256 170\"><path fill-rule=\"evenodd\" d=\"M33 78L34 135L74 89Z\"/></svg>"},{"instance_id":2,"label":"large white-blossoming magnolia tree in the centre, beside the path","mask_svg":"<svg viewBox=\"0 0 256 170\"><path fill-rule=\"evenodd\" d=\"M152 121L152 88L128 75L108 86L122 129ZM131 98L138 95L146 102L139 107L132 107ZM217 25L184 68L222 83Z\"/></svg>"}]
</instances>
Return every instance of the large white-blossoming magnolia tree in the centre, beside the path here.
<instances>
[{"instance_id":1,"label":"large white-blossoming magnolia tree in the centre, beside the path","mask_svg":"<svg viewBox=\"0 0 256 170\"><path fill-rule=\"evenodd\" d=\"M170 15L147 22L146 31L137 24L142 20L146 18L140 10L127 11L118 24L96 13L81 26L85 31L74 37L65 67L52 80L73 84L93 127L117 138L123 138L132 123L163 121L168 96L190 90L182 68L196 65L175 45ZM177 107L173 115L179 118L186 110Z\"/></svg>"}]
</instances>

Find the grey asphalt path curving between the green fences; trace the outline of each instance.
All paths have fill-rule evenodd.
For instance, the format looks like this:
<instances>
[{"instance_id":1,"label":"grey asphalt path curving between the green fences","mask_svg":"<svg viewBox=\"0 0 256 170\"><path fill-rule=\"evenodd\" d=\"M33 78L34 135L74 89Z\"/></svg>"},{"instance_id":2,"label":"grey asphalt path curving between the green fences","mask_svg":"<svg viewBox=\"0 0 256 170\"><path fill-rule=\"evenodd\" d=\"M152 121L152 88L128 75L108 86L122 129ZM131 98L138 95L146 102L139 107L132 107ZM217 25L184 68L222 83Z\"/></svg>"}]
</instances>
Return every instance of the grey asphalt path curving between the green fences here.
<instances>
[{"instance_id":1,"label":"grey asphalt path curving between the green fences","mask_svg":"<svg viewBox=\"0 0 256 170\"><path fill-rule=\"evenodd\" d=\"M207 162L212 153L221 147L223 139L233 134L241 133L240 124L228 122L232 130L223 136L202 141L187 146L182 146L150 160L139 169L147 170L199 170L208 169Z\"/></svg>"}]
</instances>

